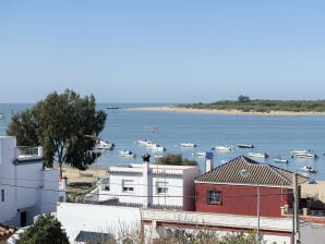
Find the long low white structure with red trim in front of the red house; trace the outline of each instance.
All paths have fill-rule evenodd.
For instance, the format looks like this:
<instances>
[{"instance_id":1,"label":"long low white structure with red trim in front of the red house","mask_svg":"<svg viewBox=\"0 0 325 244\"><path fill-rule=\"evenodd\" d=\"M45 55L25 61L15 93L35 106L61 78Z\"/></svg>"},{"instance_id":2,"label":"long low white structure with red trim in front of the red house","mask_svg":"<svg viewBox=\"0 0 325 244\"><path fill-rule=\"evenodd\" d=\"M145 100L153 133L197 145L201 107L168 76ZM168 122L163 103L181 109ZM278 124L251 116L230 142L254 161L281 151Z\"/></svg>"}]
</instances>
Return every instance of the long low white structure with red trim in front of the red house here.
<instances>
[{"instance_id":1,"label":"long low white structure with red trim in front of the red house","mask_svg":"<svg viewBox=\"0 0 325 244\"><path fill-rule=\"evenodd\" d=\"M202 230L210 231L215 228L218 235L226 235L227 233L240 233L256 228L256 217L252 216L157 209L142 209L141 216L144 240L148 244L153 243L154 239L165 237L167 229L176 230L181 228L188 233L195 235ZM263 243L289 244L291 243L292 219L261 218L261 230L269 233L262 233Z\"/></svg>"}]
</instances>

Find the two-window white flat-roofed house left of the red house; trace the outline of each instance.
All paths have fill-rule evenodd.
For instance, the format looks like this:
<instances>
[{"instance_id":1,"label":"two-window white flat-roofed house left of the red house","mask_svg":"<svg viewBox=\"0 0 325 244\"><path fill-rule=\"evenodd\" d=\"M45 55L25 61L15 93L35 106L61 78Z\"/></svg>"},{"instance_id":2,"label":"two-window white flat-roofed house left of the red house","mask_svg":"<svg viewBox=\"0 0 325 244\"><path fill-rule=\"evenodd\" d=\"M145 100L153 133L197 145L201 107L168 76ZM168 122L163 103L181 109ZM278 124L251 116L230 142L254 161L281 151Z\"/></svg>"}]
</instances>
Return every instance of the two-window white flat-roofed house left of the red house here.
<instances>
[{"instance_id":1,"label":"two-window white flat-roofed house left of the red house","mask_svg":"<svg viewBox=\"0 0 325 244\"><path fill-rule=\"evenodd\" d=\"M197 166L165 166L148 162L109 168L109 184L103 183L86 198L144 208L194 210L194 176Z\"/></svg>"}]
</instances>

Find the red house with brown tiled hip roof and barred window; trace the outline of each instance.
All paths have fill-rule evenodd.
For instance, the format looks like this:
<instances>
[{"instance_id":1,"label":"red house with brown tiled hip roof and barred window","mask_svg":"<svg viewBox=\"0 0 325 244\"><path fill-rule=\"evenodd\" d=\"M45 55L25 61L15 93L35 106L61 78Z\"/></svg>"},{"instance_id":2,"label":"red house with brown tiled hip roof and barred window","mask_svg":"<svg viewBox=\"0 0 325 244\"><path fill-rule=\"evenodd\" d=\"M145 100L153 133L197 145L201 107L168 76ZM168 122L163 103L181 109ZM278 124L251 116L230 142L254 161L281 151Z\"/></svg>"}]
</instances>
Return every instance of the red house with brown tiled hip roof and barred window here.
<instances>
[{"instance_id":1,"label":"red house with brown tiled hip roof and barred window","mask_svg":"<svg viewBox=\"0 0 325 244\"><path fill-rule=\"evenodd\" d=\"M298 175L298 184L308 178ZM293 172L237 157L195 178L196 211L282 217L293 205ZM258 199L260 198L260 199Z\"/></svg>"}]
</instances>

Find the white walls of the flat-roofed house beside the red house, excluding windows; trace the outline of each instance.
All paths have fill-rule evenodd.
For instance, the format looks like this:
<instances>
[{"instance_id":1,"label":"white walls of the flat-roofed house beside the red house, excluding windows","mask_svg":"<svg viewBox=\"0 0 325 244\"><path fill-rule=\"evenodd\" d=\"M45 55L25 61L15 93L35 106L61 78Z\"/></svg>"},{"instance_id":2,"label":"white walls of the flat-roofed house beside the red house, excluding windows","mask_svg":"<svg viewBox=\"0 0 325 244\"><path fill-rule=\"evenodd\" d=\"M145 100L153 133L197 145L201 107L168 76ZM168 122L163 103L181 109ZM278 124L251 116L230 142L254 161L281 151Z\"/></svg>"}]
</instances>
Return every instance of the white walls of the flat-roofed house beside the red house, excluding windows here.
<instances>
[{"instance_id":1,"label":"white walls of the flat-roofed house beside the red house, excluding windows","mask_svg":"<svg viewBox=\"0 0 325 244\"><path fill-rule=\"evenodd\" d=\"M120 203L143 205L145 197L147 197L148 206L191 209L193 205L191 200L194 203L194 199L190 200L188 196L194 196L193 178L200 174L198 167L149 164L147 191L144 187L143 167L143 163L111 167L110 191L100 192L99 199L104 199L105 197L101 195L106 195L107 198L119 198ZM124 181L132 183L133 191L123 191ZM168 188L167 193L158 193L158 184L165 187L165 183L166 188Z\"/></svg>"}]
</instances>

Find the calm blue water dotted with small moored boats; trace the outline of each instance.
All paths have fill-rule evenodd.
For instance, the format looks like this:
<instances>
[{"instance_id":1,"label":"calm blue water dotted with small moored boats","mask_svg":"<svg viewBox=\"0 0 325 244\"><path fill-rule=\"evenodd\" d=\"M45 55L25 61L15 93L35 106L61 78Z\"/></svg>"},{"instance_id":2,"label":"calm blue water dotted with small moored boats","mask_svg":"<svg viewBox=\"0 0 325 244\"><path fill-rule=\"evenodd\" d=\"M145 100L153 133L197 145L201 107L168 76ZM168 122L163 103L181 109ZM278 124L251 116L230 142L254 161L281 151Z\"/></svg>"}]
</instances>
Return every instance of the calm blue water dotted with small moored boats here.
<instances>
[{"instance_id":1,"label":"calm blue water dotted with small moored boats","mask_svg":"<svg viewBox=\"0 0 325 244\"><path fill-rule=\"evenodd\" d=\"M12 113L20 112L33 105L1 103L0 113L5 114L1 120L1 135L4 134L7 123ZM197 157L197 151L214 152L215 166L224 160L239 155L248 156L252 149L240 149L236 144L253 144L253 151L266 152L267 159L254 159L281 167L297 173L303 166L313 166L317 172L311 178L325 179L325 115L226 115L178 112L131 111L123 109L107 109L108 107L156 107L157 103L99 103L98 109L107 112L108 119L101 138L112 142L116 147L97 159L97 166L107 167L121 163L137 163L141 156L155 151L139 145L139 139L154 141L167 150L164 154L182 154L186 159L196 160L204 170L204 158ZM151 130L156 125L158 130ZM182 148L181 143L195 143L195 148ZM217 145L232 145L234 150L219 152L212 150ZM313 149L317 159L291 158L290 149ZM135 158L123 158L119 150L131 150ZM160 154L161 155L161 154ZM276 163L273 158L281 156L289 159L289 163ZM151 161L154 161L152 157Z\"/></svg>"}]
</instances>

